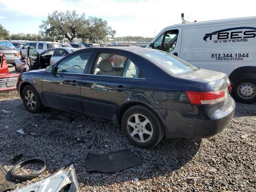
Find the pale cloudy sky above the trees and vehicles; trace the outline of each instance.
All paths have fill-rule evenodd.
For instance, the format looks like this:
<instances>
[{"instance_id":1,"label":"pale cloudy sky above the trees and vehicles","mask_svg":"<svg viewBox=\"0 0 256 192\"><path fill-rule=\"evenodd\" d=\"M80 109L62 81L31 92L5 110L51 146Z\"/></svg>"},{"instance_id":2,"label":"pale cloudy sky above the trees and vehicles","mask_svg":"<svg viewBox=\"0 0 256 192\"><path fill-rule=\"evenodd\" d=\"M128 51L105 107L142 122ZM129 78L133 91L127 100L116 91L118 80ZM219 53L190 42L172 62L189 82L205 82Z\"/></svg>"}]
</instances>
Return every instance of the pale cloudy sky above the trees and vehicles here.
<instances>
[{"instance_id":1,"label":"pale cloudy sky above the trees and vehicles","mask_svg":"<svg viewBox=\"0 0 256 192\"><path fill-rule=\"evenodd\" d=\"M11 34L38 34L38 26L55 10L76 10L106 20L118 36L154 37L181 23L256 16L253 0L0 0L0 24Z\"/></svg>"}]
</instances>

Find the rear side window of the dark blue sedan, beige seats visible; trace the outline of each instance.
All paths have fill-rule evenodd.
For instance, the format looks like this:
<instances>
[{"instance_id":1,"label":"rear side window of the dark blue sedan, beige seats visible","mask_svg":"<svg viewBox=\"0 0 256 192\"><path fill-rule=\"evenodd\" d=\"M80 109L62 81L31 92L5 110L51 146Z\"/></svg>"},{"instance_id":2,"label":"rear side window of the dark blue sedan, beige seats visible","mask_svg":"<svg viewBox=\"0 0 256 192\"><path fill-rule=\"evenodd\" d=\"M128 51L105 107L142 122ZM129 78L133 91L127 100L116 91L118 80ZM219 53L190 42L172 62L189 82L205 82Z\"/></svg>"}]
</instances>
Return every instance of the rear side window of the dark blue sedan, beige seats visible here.
<instances>
[{"instance_id":1,"label":"rear side window of the dark blue sedan, beige seats visible","mask_svg":"<svg viewBox=\"0 0 256 192\"><path fill-rule=\"evenodd\" d=\"M139 68L127 57L112 53L99 53L92 74L119 77L138 77Z\"/></svg>"}]
</instances>

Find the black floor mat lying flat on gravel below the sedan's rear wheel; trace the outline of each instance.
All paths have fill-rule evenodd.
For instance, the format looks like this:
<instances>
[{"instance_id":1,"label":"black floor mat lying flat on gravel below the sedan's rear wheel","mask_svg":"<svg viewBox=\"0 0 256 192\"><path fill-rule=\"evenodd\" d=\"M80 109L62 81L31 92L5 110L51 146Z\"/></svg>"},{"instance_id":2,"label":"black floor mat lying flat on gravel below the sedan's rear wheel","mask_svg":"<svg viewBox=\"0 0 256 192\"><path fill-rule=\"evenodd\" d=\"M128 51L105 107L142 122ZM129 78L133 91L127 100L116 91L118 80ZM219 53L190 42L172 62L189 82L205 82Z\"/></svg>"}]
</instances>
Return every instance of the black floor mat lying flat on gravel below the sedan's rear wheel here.
<instances>
[{"instance_id":1,"label":"black floor mat lying flat on gravel below the sedan's rear wheel","mask_svg":"<svg viewBox=\"0 0 256 192\"><path fill-rule=\"evenodd\" d=\"M88 171L103 173L114 173L141 165L142 162L127 149L102 155L88 153L85 159L85 166Z\"/></svg>"}]
</instances>

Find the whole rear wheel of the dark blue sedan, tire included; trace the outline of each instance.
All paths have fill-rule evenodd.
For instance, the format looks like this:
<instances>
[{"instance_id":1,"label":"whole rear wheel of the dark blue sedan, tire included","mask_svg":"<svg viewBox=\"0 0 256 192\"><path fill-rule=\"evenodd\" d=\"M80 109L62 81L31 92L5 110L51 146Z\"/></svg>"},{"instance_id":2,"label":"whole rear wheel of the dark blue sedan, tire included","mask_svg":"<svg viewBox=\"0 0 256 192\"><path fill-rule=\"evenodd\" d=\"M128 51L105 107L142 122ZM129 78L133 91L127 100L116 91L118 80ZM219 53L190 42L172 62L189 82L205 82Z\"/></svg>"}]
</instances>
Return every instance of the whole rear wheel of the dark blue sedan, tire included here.
<instances>
[{"instance_id":1,"label":"whole rear wheel of the dark blue sedan, tire included","mask_svg":"<svg viewBox=\"0 0 256 192\"><path fill-rule=\"evenodd\" d=\"M126 138L140 148L153 147L164 136L164 126L159 117L143 105L133 106L124 113L122 130Z\"/></svg>"}]
</instances>

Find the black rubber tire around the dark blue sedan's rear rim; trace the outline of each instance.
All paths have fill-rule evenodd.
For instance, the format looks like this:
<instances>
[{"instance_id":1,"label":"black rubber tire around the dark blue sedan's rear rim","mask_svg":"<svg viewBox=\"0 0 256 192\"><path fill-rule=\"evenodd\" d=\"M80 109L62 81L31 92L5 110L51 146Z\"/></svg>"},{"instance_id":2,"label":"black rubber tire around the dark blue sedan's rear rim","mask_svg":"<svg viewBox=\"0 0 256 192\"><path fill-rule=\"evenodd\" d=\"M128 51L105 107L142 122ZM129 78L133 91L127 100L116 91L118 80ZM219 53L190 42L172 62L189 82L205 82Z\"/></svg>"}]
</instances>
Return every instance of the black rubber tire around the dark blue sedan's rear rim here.
<instances>
[{"instance_id":1,"label":"black rubber tire around the dark blue sedan's rear rim","mask_svg":"<svg viewBox=\"0 0 256 192\"><path fill-rule=\"evenodd\" d=\"M137 128L139 126L137 126L137 131L139 131L138 129L142 129L140 130L140 132L138 134L135 134L134 137L131 136L131 132L135 130L135 128L133 128L132 126L128 125L128 121L132 121L133 115L136 114L141 114L142 116L140 116L140 118L146 117L149 120L149 123L146 124L146 126L148 126L150 128L150 131L152 132L152 136L147 135L148 138L147 140L145 139L145 141L138 141L140 139L140 136L138 134L142 134L142 137L144 139L145 136L145 132L148 130L146 129L146 126L142 126L142 128ZM143 117L144 116L144 117ZM134 116L135 118L135 116ZM136 121L135 121L136 122ZM143 123L143 122L142 122ZM142 125L141 123L141 125ZM152 128L151 128L152 126ZM140 147L140 148L151 148L156 146L156 144L158 144L162 138L164 137L164 126L162 124L162 121L160 120L160 118L154 113L154 111L152 111L150 108L144 106L144 105L136 105L133 106L131 108L129 108L123 115L122 117L122 130L124 132L124 135L126 136L126 138L134 145ZM144 130L144 133L142 133ZM136 132L136 131L135 131ZM137 139L138 138L138 139Z\"/></svg>"}]
</instances>

